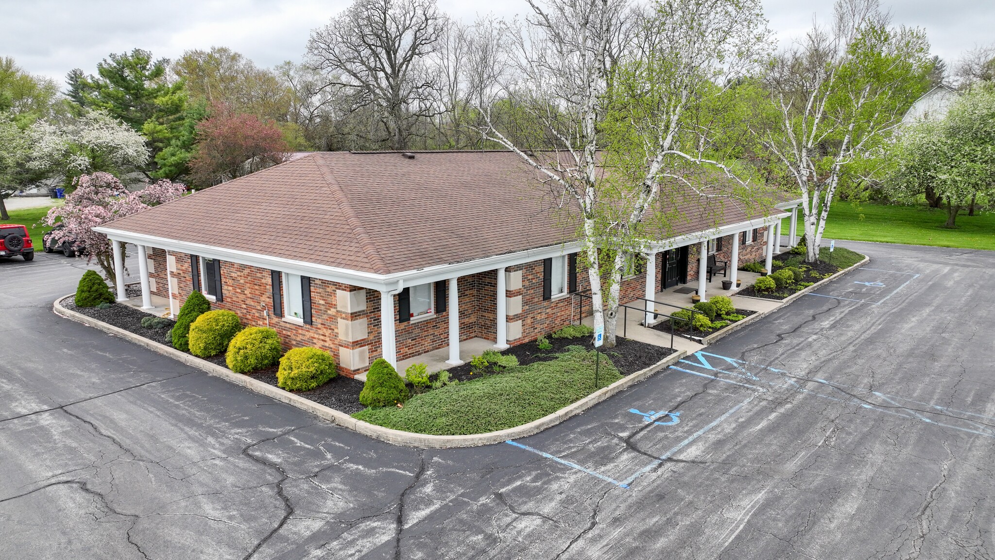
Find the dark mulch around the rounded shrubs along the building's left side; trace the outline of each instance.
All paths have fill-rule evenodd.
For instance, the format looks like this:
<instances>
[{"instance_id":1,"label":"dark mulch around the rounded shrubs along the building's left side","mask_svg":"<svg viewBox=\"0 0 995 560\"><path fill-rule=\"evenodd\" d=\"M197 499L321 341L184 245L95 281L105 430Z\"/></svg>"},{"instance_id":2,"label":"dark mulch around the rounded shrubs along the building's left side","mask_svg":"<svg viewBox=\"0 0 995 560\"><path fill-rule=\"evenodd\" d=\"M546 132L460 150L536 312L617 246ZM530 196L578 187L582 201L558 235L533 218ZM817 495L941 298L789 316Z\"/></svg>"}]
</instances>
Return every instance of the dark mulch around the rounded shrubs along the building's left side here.
<instances>
[{"instance_id":1,"label":"dark mulch around the rounded shrubs along the building's left side","mask_svg":"<svg viewBox=\"0 0 995 560\"><path fill-rule=\"evenodd\" d=\"M131 295L130 291L131 288L129 286L128 295ZM103 321L104 323L113 325L114 327L124 329L129 333L134 333L148 340L164 344L169 348L173 347L173 341L169 334L169 331L172 329L172 325L162 330L146 329L141 326L141 320L145 317L151 317L151 315L139 309L119 303L112 303L107 309L97 309L96 307L77 307L76 304L73 303L72 296L64 299L62 301L62 305L66 309L82 313L87 317L93 317L94 319ZM228 367L225 363L224 354L207 358L207 361L212 364L217 364L222 368ZM277 370L278 368L274 366L272 368L253 372L248 374L248 376L268 385L277 387ZM362 391L362 389L363 382L361 381L347 378L345 376L335 376L334 379L317 389L295 393L295 395L320 405L324 405L330 409L335 409L336 411L341 411L347 415L351 415L352 413L357 413L366 408L359 404L359 392Z\"/></svg>"}]
</instances>

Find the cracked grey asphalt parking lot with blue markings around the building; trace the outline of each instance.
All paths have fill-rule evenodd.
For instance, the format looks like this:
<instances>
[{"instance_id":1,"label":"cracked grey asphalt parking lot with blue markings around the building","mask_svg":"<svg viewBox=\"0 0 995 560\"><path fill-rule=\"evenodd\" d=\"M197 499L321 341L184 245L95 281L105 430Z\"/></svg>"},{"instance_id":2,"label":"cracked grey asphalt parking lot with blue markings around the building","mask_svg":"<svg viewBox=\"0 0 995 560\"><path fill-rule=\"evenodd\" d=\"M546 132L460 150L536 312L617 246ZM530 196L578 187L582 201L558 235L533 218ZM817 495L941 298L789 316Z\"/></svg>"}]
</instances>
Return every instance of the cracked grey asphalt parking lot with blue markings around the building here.
<instances>
[{"instance_id":1,"label":"cracked grey asphalt parking lot with blue markings around the building","mask_svg":"<svg viewBox=\"0 0 995 560\"><path fill-rule=\"evenodd\" d=\"M0 557L988 558L995 252L841 244L873 260L821 296L447 450L58 318L79 268L0 263Z\"/></svg>"}]
</instances>

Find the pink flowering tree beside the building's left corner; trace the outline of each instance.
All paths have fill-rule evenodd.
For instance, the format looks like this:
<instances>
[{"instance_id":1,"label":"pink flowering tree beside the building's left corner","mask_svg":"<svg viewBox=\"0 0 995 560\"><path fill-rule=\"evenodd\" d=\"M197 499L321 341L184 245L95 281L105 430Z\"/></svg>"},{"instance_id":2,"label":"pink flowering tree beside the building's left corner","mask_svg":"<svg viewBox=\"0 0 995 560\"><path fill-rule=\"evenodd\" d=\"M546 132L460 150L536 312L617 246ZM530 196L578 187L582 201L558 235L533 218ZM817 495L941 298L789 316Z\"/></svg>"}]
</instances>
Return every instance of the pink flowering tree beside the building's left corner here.
<instances>
[{"instance_id":1,"label":"pink flowering tree beside the building's left corner","mask_svg":"<svg viewBox=\"0 0 995 560\"><path fill-rule=\"evenodd\" d=\"M76 190L66 195L66 204L52 208L43 219L48 226L62 224L49 243L69 241L77 252L89 257L89 262L97 261L111 284L115 277L110 240L93 228L179 198L186 190L183 183L162 179L143 190L129 191L117 177L105 172L81 175L76 183Z\"/></svg>"}]
</instances>

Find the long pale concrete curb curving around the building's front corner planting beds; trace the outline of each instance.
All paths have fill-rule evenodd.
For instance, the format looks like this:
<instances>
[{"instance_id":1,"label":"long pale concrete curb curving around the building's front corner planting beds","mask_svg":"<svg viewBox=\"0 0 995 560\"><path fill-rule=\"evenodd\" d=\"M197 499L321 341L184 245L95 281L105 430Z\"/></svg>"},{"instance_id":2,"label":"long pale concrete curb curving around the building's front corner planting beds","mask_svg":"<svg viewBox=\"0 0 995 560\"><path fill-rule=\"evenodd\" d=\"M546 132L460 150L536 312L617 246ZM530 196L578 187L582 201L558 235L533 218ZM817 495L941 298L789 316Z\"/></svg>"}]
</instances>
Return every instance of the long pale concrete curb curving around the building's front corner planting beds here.
<instances>
[{"instance_id":1,"label":"long pale concrete curb curving around the building's front corner planting beds","mask_svg":"<svg viewBox=\"0 0 995 560\"><path fill-rule=\"evenodd\" d=\"M72 295L72 294L70 294ZM587 409L590 409L594 405L608 399L609 397L628 389L629 387L645 380L646 378L652 376L653 374L663 370L664 368L670 366L671 364L677 362L678 360L684 358L688 355L687 351L681 350L674 354L671 354L664 360L646 368L645 370L636 372L630 376L626 376L621 380L613 383L608 387L599 389L598 391L588 395L587 397L568 405L555 413L542 417L538 420L532 420L528 423L523 423L515 427L509 427L507 429L501 429L498 431L489 431L487 433L475 433L473 435L431 435L428 433L414 433L410 431L401 431L399 429L390 429L388 427L379 426L372 424L363 420L355 420L345 413L336 411L334 409L329 409L324 405L319 405L303 397L299 397L293 393L288 393L283 389L274 387L272 385L263 383L259 380L250 378L249 376L244 376L242 374L236 374L228 368L223 368L217 364L212 364L207 360L202 360L196 356L191 356L185 352L180 352L175 348L170 348L163 344L159 344L154 341L150 341L142 336L136 335L114 327L113 325L108 325L102 321L98 321L93 317L88 317L82 313L71 311L66 309L60 303L63 299L68 296L60 297L55 301L53 305L53 310L57 315L65 317L67 319L72 319L79 323L83 323L89 327L95 327L101 331L120 337L124 340L133 342L139 346L145 347L154 352L158 352L163 356L168 356L174 360L179 360L188 366L193 366L199 370L202 370L212 376L217 376L226 381L240 385L259 393L261 395L266 395L286 403L293 407L297 407L303 411L307 411L315 416L318 416L324 420L329 420L333 423L341 425L357 431L364 435L368 435L375 439L380 439L382 441L387 441L388 443L394 443L397 445L407 445L409 447L470 447L475 445L487 445L490 443L498 443L500 441L505 441L507 439L514 439L517 437L524 437L526 435L531 435L556 425L557 423L566 420L574 415L578 415Z\"/></svg>"}]
</instances>

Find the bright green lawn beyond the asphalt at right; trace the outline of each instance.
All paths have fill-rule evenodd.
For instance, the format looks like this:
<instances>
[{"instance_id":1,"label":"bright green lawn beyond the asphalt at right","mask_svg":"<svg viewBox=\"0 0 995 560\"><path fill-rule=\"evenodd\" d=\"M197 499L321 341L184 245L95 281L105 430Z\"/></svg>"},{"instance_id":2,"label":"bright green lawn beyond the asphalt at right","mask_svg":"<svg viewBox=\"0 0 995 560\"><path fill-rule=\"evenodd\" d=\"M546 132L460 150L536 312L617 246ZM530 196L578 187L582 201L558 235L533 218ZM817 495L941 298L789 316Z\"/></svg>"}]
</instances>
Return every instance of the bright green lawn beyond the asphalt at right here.
<instances>
[{"instance_id":1,"label":"bright green lawn beyond the asphalt at right","mask_svg":"<svg viewBox=\"0 0 995 560\"><path fill-rule=\"evenodd\" d=\"M837 200L829 210L824 236L829 239L995 250L995 212L976 212L976 215L968 216L966 210L962 211L957 216L956 229L942 227L945 221L946 210L943 208L875 203L854 206L850 202ZM798 230L801 235L801 212ZM781 232L787 234L787 220L784 220Z\"/></svg>"}]
</instances>

